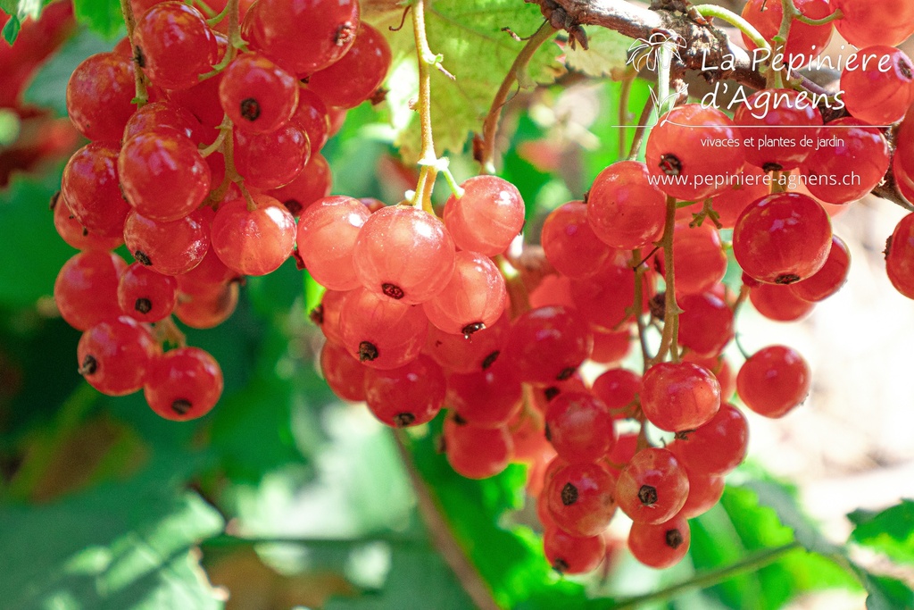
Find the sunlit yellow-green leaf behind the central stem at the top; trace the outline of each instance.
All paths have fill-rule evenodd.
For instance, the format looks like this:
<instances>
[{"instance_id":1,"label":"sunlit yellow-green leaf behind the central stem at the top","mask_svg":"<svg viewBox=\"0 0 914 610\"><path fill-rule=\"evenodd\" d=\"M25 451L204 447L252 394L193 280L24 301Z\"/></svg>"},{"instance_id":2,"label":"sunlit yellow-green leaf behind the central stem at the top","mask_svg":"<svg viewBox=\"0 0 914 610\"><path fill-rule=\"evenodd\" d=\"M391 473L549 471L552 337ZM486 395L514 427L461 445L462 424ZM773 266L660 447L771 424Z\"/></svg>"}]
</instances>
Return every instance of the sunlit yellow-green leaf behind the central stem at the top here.
<instances>
[{"instance_id":1,"label":"sunlit yellow-green leaf behind the central stem at the top","mask_svg":"<svg viewBox=\"0 0 914 610\"><path fill-rule=\"evenodd\" d=\"M399 24L399 14L379 28ZM443 56L441 62L455 80L431 69L431 122L436 148L461 151L471 132L479 132L489 111L495 91L524 47L507 32L510 27L518 36L537 31L543 16L536 5L516 0L437 0L426 13L426 32L433 53ZM407 25L388 35L394 52L394 63L388 77L388 108L396 132L394 144L407 164L419 158L420 129L416 112L409 109L410 100L418 95L416 50L412 31ZM549 83L554 80L558 48L547 42L537 50L521 82Z\"/></svg>"}]
</instances>

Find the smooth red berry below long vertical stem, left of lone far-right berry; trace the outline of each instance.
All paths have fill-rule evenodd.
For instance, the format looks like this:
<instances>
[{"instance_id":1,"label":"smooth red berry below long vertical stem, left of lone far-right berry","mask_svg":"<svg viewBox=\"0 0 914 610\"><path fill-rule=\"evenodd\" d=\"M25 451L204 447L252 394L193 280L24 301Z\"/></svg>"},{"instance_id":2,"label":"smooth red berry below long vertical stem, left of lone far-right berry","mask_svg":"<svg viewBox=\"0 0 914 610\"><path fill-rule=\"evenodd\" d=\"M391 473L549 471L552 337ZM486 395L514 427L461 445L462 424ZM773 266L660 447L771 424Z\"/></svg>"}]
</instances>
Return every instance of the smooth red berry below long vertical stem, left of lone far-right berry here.
<instances>
[{"instance_id":1,"label":"smooth red berry below long vertical stem, left of lone far-right berry","mask_svg":"<svg viewBox=\"0 0 914 610\"><path fill-rule=\"evenodd\" d=\"M644 373L641 408L661 430L695 430L720 408L720 384L693 362L661 362Z\"/></svg>"}]
</instances>

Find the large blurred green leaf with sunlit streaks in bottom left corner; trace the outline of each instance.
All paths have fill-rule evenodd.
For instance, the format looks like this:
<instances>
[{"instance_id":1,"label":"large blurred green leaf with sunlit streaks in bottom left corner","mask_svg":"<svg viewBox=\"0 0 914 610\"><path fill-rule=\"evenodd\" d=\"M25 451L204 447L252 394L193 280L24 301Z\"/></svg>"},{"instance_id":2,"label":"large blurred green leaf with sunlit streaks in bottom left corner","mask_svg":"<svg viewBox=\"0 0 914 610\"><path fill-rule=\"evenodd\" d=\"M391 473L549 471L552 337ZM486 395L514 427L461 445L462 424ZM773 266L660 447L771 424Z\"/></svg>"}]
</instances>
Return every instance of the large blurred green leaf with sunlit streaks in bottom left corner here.
<instances>
[{"instance_id":1,"label":"large blurred green leaf with sunlit streaks in bottom left corner","mask_svg":"<svg viewBox=\"0 0 914 610\"><path fill-rule=\"evenodd\" d=\"M42 507L0 508L0 599L9 610L222 607L193 548L218 512L180 486L176 455L127 482Z\"/></svg>"}]
</instances>

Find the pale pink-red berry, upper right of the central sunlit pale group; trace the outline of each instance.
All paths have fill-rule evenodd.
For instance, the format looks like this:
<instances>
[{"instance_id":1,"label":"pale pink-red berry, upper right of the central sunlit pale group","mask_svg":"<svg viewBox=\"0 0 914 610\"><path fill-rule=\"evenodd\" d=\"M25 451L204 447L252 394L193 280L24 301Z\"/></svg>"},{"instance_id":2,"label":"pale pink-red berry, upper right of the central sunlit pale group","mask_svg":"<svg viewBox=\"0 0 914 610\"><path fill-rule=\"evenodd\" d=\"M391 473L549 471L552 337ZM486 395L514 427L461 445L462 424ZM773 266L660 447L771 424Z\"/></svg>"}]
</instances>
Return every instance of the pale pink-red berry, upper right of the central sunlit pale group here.
<instances>
[{"instance_id":1,"label":"pale pink-red berry, upper right of the central sunlit pale group","mask_svg":"<svg viewBox=\"0 0 914 610\"><path fill-rule=\"evenodd\" d=\"M485 256L500 254L524 226L524 200L510 182L496 176L474 176L461 184L444 206L444 225L461 250Z\"/></svg>"}]
</instances>

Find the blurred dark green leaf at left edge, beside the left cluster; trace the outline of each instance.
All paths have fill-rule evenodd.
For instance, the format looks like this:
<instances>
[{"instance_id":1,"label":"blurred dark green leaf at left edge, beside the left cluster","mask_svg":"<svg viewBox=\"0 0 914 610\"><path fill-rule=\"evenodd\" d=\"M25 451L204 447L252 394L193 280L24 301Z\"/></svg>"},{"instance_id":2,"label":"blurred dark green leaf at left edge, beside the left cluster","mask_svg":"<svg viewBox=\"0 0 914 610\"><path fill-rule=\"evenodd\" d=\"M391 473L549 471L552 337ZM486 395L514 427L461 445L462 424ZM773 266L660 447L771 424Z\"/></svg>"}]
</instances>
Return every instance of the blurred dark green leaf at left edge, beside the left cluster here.
<instances>
[{"instance_id":1,"label":"blurred dark green leaf at left edge, beside the left cluster","mask_svg":"<svg viewBox=\"0 0 914 610\"><path fill-rule=\"evenodd\" d=\"M35 305L53 294L60 267L76 251L54 229L51 195L60 188L60 172L44 177L15 175L0 191L0 227L4 229L3 257L20 264L0 265L0 305Z\"/></svg>"}]
</instances>

